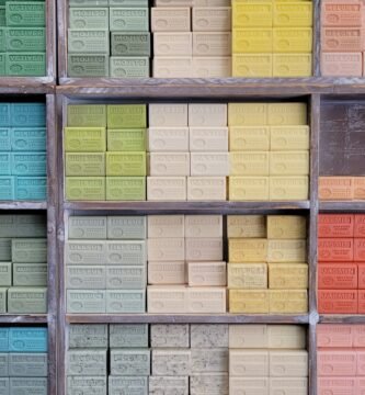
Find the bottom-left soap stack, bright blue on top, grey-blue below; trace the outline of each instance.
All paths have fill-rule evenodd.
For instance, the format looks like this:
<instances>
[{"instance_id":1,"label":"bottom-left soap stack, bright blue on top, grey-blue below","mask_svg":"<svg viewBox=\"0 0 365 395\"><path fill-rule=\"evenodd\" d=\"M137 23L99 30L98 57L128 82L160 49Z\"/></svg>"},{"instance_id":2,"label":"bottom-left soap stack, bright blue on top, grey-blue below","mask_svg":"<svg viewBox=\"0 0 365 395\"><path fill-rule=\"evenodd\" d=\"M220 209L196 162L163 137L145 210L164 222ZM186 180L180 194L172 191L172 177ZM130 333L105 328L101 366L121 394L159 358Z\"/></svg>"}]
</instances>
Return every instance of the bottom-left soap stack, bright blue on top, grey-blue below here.
<instances>
[{"instance_id":1,"label":"bottom-left soap stack, bright blue on top, grey-blue below","mask_svg":"<svg viewBox=\"0 0 365 395\"><path fill-rule=\"evenodd\" d=\"M0 393L47 395L47 329L0 328Z\"/></svg>"}]
</instances>

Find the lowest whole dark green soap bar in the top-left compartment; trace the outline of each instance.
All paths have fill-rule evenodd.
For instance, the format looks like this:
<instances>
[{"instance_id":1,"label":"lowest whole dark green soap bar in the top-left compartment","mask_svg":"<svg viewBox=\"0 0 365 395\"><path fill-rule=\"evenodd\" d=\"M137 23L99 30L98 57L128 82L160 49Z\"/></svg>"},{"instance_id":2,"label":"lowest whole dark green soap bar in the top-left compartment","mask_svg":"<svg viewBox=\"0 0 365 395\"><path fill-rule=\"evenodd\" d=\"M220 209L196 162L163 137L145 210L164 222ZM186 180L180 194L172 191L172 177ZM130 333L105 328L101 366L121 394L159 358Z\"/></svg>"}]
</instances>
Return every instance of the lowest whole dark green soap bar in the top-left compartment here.
<instances>
[{"instance_id":1,"label":"lowest whole dark green soap bar in the top-left compartment","mask_svg":"<svg viewBox=\"0 0 365 395\"><path fill-rule=\"evenodd\" d=\"M7 76L11 77L43 77L46 75L46 54L8 53L5 54L5 71Z\"/></svg>"}]
</instances>

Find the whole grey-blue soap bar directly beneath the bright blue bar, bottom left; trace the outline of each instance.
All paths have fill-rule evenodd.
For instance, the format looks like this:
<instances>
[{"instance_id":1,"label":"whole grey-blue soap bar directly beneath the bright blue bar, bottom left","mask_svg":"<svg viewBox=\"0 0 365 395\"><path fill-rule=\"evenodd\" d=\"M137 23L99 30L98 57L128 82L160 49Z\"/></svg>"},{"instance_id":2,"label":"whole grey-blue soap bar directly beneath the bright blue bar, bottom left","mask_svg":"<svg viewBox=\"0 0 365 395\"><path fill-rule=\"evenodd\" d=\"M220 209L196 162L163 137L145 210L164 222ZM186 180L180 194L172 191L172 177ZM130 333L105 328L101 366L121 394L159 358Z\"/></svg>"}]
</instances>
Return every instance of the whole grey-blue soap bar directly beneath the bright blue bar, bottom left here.
<instances>
[{"instance_id":1,"label":"whole grey-blue soap bar directly beneath the bright blue bar, bottom left","mask_svg":"<svg viewBox=\"0 0 365 395\"><path fill-rule=\"evenodd\" d=\"M11 377L46 377L47 376L46 352L42 353L10 353L9 373Z\"/></svg>"}]
</instances>

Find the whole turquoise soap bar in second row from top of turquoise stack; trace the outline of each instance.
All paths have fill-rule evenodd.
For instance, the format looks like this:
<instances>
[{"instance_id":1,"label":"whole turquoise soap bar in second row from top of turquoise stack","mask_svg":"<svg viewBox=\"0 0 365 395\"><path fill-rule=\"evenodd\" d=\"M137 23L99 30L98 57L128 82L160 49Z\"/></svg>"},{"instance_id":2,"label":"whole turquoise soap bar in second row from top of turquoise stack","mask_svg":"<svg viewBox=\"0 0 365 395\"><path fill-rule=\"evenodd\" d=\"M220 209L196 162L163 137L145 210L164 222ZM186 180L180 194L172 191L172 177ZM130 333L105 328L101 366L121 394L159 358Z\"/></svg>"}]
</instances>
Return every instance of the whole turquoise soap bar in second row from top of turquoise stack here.
<instances>
[{"instance_id":1,"label":"whole turquoise soap bar in second row from top of turquoise stack","mask_svg":"<svg viewBox=\"0 0 365 395\"><path fill-rule=\"evenodd\" d=\"M46 134L45 127L13 127L11 129L11 150L45 151Z\"/></svg>"}]
</instances>

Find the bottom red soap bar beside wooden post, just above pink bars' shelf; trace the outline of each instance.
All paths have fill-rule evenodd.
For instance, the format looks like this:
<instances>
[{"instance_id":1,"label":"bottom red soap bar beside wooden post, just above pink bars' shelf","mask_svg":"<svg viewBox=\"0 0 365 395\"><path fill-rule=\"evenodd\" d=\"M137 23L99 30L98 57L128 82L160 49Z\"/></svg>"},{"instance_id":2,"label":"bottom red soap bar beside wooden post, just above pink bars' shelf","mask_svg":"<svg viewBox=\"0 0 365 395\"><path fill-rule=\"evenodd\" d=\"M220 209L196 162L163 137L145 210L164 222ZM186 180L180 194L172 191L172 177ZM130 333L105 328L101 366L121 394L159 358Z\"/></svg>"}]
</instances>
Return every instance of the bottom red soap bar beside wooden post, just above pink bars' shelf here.
<instances>
[{"instance_id":1,"label":"bottom red soap bar beside wooden post, just above pink bars' shelf","mask_svg":"<svg viewBox=\"0 0 365 395\"><path fill-rule=\"evenodd\" d=\"M357 291L319 290L318 312L323 314L356 314Z\"/></svg>"}]
</instances>

